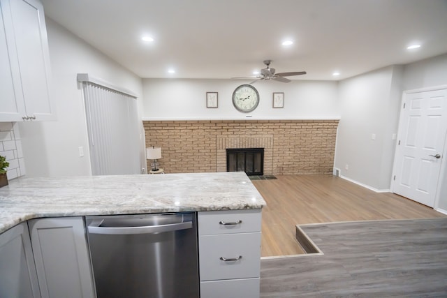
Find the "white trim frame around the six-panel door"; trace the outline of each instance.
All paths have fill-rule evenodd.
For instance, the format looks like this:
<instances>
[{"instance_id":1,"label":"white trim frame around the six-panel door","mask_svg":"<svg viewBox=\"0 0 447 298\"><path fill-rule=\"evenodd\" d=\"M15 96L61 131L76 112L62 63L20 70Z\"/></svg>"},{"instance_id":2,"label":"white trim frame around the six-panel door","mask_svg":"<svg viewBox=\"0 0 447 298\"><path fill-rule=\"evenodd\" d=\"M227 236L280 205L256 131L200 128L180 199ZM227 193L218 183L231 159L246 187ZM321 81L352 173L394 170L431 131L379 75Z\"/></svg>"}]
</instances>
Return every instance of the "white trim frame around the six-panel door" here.
<instances>
[{"instance_id":1,"label":"white trim frame around the six-panel door","mask_svg":"<svg viewBox=\"0 0 447 298\"><path fill-rule=\"evenodd\" d=\"M404 90L402 91L402 98L400 100L400 115L399 115L399 121L397 124L397 139L400 139L400 133L401 133L401 126L402 126L402 106L404 104L404 99L406 97L407 94L413 94L413 93L420 93L420 92L427 92L427 91L437 91L437 90L442 90L442 89L447 89L447 85L440 85L440 86L433 86L433 87L424 87L424 88L420 88L420 89L410 89L410 90ZM444 116L445 117L445 116ZM444 139L444 147L442 148L442 154L443 154L443 158L441 160L441 169L439 170L439 176L438 176L438 181L437 181L437 188L436 188L436 193L434 194L434 206L433 209L439 211L439 199L440 199L440 188L441 188L441 181L442 179L444 179L444 177L447 177L447 167L446 167L446 159L447 159L447 154L444 154L445 151L447 149L447 133L446 133L446 137ZM391 175L391 191L394 193L394 189L395 189L395 180L393 179L393 177L395 176L395 170L396 170L396 164L397 164L397 159L396 159L396 155L397 155L397 151L399 150L399 147L395 146L395 152L394 152L394 158L393 158L393 171L392 171L392 175ZM445 157L445 158L444 158ZM411 200L411 199L410 199ZM416 201L415 201L416 202ZM445 211L440 211L442 213L445 213Z\"/></svg>"}]
</instances>

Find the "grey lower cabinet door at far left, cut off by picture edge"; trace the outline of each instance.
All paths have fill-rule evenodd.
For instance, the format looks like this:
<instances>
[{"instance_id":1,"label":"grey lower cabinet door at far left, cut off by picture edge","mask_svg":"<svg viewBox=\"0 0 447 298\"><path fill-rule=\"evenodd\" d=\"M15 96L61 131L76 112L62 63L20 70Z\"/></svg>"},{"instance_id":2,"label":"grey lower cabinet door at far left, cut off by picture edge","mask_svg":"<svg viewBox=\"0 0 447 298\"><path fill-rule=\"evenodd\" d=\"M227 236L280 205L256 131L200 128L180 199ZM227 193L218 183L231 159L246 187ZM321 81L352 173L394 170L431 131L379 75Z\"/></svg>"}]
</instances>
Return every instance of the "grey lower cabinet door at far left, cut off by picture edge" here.
<instances>
[{"instance_id":1,"label":"grey lower cabinet door at far left, cut off by picture edge","mask_svg":"<svg viewBox=\"0 0 447 298\"><path fill-rule=\"evenodd\" d=\"M27 223L0 234L0 297L41 297Z\"/></svg>"}]
</instances>

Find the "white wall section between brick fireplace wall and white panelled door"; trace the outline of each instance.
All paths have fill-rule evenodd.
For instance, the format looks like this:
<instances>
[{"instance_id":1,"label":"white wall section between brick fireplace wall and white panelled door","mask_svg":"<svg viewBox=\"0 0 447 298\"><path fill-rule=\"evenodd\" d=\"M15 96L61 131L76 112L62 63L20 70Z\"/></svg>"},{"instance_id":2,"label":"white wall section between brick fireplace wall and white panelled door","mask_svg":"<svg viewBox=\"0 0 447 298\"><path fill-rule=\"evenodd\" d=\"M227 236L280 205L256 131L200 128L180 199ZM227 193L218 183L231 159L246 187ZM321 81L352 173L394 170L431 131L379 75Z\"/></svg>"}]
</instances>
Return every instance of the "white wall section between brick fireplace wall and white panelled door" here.
<instances>
[{"instance_id":1,"label":"white wall section between brick fireplace wall and white panelled door","mask_svg":"<svg viewBox=\"0 0 447 298\"><path fill-rule=\"evenodd\" d=\"M388 66L339 82L335 167L376 191L390 188L401 80L402 66Z\"/></svg>"}]
</instances>

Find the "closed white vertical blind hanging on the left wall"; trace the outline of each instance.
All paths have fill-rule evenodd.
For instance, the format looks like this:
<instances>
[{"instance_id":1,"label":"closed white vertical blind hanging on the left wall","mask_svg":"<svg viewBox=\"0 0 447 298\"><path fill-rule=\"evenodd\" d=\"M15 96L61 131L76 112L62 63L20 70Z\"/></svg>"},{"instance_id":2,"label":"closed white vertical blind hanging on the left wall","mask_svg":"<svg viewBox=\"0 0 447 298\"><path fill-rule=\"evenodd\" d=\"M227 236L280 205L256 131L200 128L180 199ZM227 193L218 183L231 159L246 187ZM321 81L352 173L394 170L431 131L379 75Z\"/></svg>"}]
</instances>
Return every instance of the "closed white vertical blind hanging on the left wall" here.
<instances>
[{"instance_id":1,"label":"closed white vertical blind hanging on the left wall","mask_svg":"<svg viewBox=\"0 0 447 298\"><path fill-rule=\"evenodd\" d=\"M137 100L92 82L82 82L91 173L140 174Z\"/></svg>"}]
</instances>

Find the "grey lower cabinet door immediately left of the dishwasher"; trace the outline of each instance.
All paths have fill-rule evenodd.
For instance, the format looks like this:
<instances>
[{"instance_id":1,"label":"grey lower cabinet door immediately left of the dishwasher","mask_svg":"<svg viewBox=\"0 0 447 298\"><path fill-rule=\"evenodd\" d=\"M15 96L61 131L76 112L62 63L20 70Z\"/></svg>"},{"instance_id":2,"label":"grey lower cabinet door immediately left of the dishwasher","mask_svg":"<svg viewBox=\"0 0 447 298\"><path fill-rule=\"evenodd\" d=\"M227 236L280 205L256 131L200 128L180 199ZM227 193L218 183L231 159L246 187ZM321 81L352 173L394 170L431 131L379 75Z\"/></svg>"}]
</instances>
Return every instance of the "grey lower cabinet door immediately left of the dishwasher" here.
<instances>
[{"instance_id":1,"label":"grey lower cabinet door immediately left of the dishwasher","mask_svg":"<svg viewBox=\"0 0 447 298\"><path fill-rule=\"evenodd\" d=\"M29 221L43 298L95 297L82 217Z\"/></svg>"}]
</instances>

